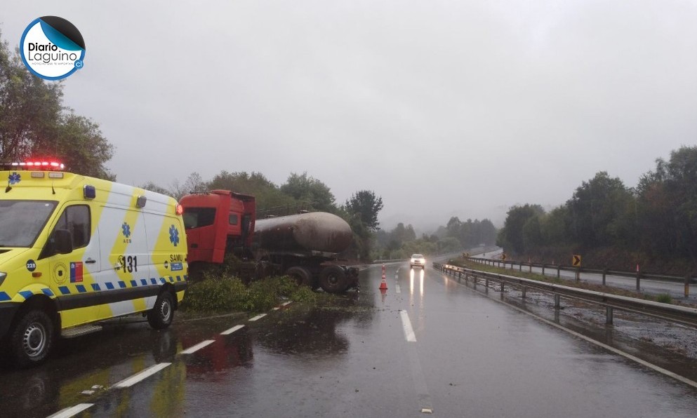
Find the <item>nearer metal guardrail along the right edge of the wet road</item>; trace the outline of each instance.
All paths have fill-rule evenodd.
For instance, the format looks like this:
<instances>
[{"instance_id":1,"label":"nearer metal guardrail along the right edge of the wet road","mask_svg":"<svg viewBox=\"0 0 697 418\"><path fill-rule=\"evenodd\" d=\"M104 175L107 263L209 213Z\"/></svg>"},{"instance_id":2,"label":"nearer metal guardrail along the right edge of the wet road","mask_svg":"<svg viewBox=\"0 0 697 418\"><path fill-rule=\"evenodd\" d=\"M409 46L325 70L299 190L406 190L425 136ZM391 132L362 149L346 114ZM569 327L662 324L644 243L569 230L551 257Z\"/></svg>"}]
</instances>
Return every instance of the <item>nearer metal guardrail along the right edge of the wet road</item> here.
<instances>
[{"instance_id":1,"label":"nearer metal guardrail along the right edge of the wet road","mask_svg":"<svg viewBox=\"0 0 697 418\"><path fill-rule=\"evenodd\" d=\"M477 288L477 284L480 280L484 280L484 285L486 286L487 291L489 289L489 281L495 281L499 283L501 286L501 292L503 292L503 290L505 289L505 285L511 285L517 288L521 288L523 299L525 299L526 297L526 290L528 288L541 290L544 292L550 292L555 295L555 309L560 308L560 298L562 296L569 299L577 299L583 302L589 302L591 304L604 306L605 322L608 324L612 323L613 310L619 309L621 311L633 312L635 314L652 316L654 318L661 318L667 321L674 321L677 323L697 327L696 308L664 304L661 302L653 302L649 300L635 299L633 297L611 295L609 293L595 292L593 290L571 288L569 286L557 285L554 283L534 281L528 278L506 276L505 274L495 274L488 273L486 271L465 269L464 267L453 266L450 264L441 264L434 262L433 267L435 269L444 271L444 273L449 274L451 276L457 276L459 279L465 278L465 282L472 279L474 283L474 288Z\"/></svg>"}]
</instances>

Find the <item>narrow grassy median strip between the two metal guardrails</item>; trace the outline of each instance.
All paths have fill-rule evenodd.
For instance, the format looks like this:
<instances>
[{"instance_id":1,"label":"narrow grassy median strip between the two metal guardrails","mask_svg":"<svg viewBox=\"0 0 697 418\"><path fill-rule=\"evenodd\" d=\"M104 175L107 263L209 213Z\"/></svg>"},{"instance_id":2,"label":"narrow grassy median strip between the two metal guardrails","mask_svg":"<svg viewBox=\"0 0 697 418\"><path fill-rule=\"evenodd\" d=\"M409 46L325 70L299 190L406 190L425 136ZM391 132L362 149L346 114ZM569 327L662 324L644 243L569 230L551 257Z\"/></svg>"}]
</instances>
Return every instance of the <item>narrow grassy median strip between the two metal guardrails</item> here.
<instances>
[{"instance_id":1,"label":"narrow grassy median strip between the two metal guardrails","mask_svg":"<svg viewBox=\"0 0 697 418\"><path fill-rule=\"evenodd\" d=\"M647 295L645 293L633 292L632 290L625 290L620 288L613 288L612 286L599 285L595 283L588 283L585 281L576 281L572 278L557 278L556 276L543 276L538 273L531 273L530 271L519 271L517 269L504 269L503 267L495 267L487 264L479 264L477 262L472 262L464 258L449 259L448 264L458 267L464 267L465 269L486 271L488 273L494 274L505 274L506 276L515 276L520 278L528 278L530 280L541 281L545 283L554 283L557 285L569 286L569 288L579 288L584 290L593 290L595 292L604 292L611 295L633 297L635 299L651 300L653 302L661 302L665 304L679 304L679 302L674 301L672 297L668 294L659 295Z\"/></svg>"}]
</instances>

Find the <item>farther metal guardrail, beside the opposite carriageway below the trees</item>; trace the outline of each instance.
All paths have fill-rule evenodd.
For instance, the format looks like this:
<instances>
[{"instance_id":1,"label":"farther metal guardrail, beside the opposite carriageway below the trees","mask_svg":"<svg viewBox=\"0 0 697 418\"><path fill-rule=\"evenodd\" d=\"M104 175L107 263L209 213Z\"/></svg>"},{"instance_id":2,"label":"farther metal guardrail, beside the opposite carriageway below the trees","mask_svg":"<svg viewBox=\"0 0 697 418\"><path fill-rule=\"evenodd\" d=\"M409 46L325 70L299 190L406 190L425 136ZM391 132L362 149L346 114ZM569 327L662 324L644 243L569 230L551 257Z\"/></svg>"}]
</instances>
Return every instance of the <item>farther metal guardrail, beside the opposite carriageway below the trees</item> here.
<instances>
[{"instance_id":1,"label":"farther metal guardrail, beside the opposite carriageway below the trees","mask_svg":"<svg viewBox=\"0 0 697 418\"><path fill-rule=\"evenodd\" d=\"M533 267L541 268L542 269L542 274L543 276L545 275L545 269L550 269L550 270L557 270L557 278L561 275L561 271L571 271L576 274L576 280L580 280L580 274L581 273L590 273L590 274L602 274L603 276L603 285L605 284L605 277L606 276L619 276L619 277L630 277L634 278L637 281L637 291L639 291L640 287L640 282L642 278L647 278L651 280L661 280L661 281L671 281L675 283L684 283L685 285L685 297L689 297L690 295L690 283L697 283L697 279L693 278L692 276L670 276L667 274L652 274L652 273L643 273L642 271L620 271L620 270L610 270L610 269L588 269L586 267L573 267L573 266L565 266L562 264L544 264L544 263L526 263L526 262L517 262L517 261L508 261L508 260L503 260L503 259L489 259L489 258L479 258L479 257L468 257L468 259L472 260L473 262L478 262L480 264L487 264L491 266L497 266L501 267L501 264L503 264L503 269L506 269L506 265L510 264L510 268L513 269L514 266L519 267L519 271L523 270L523 266L529 267L529 270L532 271Z\"/></svg>"}]
</instances>

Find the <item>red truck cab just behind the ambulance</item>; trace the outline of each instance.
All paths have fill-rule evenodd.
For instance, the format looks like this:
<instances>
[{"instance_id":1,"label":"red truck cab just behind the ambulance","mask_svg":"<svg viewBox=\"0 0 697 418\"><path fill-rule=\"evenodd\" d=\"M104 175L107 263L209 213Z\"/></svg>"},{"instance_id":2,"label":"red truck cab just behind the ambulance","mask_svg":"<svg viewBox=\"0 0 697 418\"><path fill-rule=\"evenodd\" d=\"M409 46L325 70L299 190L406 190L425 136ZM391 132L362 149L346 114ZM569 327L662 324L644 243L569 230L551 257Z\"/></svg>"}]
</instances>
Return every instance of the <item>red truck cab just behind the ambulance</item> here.
<instances>
[{"instance_id":1,"label":"red truck cab just behind the ambulance","mask_svg":"<svg viewBox=\"0 0 697 418\"><path fill-rule=\"evenodd\" d=\"M226 252L251 255L256 201L230 190L212 190L181 198L189 245L187 261L222 263Z\"/></svg>"}]
</instances>

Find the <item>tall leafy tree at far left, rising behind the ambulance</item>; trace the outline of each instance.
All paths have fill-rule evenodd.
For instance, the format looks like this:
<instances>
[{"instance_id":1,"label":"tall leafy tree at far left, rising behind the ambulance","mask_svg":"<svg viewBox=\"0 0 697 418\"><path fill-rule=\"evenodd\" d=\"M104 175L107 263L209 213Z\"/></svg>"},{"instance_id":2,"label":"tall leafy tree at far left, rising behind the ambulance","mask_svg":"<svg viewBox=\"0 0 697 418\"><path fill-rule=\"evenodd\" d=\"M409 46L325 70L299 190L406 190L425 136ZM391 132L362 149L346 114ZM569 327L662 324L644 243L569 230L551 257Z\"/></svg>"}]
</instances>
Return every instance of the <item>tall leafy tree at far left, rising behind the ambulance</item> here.
<instances>
[{"instance_id":1,"label":"tall leafy tree at far left, rising behind the ambulance","mask_svg":"<svg viewBox=\"0 0 697 418\"><path fill-rule=\"evenodd\" d=\"M73 173L115 180L114 149L98 123L62 105L62 83L31 74L0 40L0 160L56 159Z\"/></svg>"}]
</instances>

